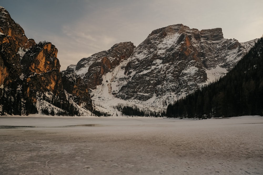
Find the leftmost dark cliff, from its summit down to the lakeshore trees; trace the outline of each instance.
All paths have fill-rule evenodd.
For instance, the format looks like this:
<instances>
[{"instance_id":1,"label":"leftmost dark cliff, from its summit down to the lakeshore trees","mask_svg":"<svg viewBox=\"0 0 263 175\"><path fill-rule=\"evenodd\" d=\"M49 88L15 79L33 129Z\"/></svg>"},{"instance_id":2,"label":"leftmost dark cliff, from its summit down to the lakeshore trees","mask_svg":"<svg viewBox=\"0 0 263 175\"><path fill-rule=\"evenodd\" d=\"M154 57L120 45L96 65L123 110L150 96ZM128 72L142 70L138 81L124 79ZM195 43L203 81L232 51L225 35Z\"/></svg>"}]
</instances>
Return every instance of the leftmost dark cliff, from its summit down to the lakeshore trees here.
<instances>
[{"instance_id":1,"label":"leftmost dark cliff, from its summit down to the lakeshore trees","mask_svg":"<svg viewBox=\"0 0 263 175\"><path fill-rule=\"evenodd\" d=\"M28 39L20 25L0 7L0 97L1 115L36 113L36 107L23 98L22 67L20 60L35 41ZM21 101L23 99L23 101ZM23 110L22 110L23 109Z\"/></svg>"}]
</instances>

